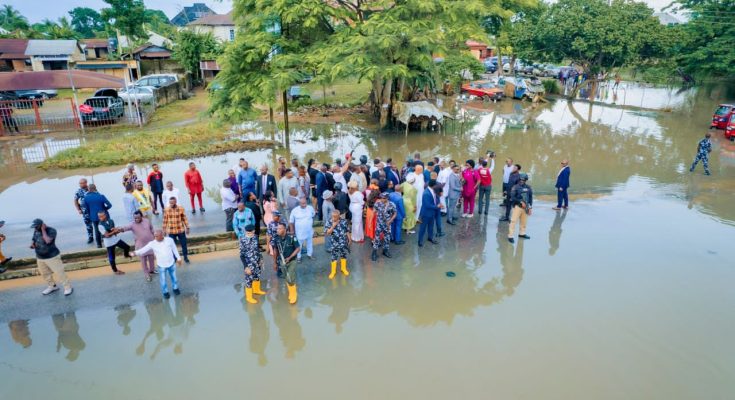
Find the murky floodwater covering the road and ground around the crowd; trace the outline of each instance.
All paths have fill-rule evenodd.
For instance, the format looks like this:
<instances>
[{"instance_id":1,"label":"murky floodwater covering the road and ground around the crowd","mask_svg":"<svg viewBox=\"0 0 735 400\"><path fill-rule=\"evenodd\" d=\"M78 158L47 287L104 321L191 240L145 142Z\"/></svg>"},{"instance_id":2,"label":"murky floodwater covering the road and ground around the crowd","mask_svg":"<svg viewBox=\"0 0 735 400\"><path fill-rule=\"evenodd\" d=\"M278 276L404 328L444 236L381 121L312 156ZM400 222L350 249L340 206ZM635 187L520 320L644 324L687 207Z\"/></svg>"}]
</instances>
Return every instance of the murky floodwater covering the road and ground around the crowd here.
<instances>
[{"instance_id":1,"label":"murky floodwater covering the road and ground around the crowd","mask_svg":"<svg viewBox=\"0 0 735 400\"><path fill-rule=\"evenodd\" d=\"M735 147L718 131L713 176L687 168L714 106L735 96L656 93L673 99L657 104L678 106L471 102L457 106L462 117L449 132L408 138L296 126L289 149L244 156L331 160L355 148L394 160L415 151L513 157L539 194L532 239L507 243L496 198L487 220L462 220L438 246L419 251L410 237L376 264L366 246L353 248L347 279L326 278L317 248L317 260L300 267L295 307L269 268L265 302L244 306L234 254L181 268L183 293L168 302L139 272L80 280L70 298L2 290L0 398L731 399ZM267 126L246 128L270 135ZM214 188L239 156L195 160L205 185ZM574 197L556 213L562 158L571 160ZM162 164L179 187L187 161ZM0 218L9 221L5 233L29 235L42 210L60 232L83 239L71 209L77 179L94 176L119 211L122 169L14 172L0 193L1 209L12 209ZM497 166L494 175L499 182ZM200 231L220 230L213 196L206 202ZM78 242L65 240L67 251Z\"/></svg>"}]
</instances>

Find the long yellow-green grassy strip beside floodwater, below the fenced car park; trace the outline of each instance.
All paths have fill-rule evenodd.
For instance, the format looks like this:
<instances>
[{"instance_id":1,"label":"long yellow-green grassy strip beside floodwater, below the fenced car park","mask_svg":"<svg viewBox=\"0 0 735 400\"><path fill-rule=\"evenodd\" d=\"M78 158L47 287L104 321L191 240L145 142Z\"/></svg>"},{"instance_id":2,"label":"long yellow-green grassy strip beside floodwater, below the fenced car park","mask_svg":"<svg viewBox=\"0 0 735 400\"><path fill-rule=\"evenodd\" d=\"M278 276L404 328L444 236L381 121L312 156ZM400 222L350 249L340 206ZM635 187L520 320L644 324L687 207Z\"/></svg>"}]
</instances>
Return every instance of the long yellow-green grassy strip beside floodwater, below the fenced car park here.
<instances>
[{"instance_id":1,"label":"long yellow-green grassy strip beside floodwater, below the fenced car park","mask_svg":"<svg viewBox=\"0 0 735 400\"><path fill-rule=\"evenodd\" d=\"M227 129L215 129L199 122L186 127L145 130L95 141L62 151L44 161L40 168L91 168L194 158L273 146L275 142L270 140L242 141L233 138Z\"/></svg>"}]
</instances>

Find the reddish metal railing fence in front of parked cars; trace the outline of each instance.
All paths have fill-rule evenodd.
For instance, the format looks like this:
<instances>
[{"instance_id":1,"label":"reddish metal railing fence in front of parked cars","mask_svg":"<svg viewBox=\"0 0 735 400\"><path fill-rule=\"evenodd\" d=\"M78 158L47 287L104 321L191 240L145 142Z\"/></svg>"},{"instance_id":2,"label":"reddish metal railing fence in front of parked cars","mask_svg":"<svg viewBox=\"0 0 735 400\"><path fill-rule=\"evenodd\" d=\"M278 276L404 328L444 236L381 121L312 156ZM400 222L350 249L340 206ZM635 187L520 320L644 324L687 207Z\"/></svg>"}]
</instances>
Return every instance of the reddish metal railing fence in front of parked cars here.
<instances>
[{"instance_id":1,"label":"reddish metal railing fence in front of parked cars","mask_svg":"<svg viewBox=\"0 0 735 400\"><path fill-rule=\"evenodd\" d=\"M33 99L0 101L0 136L62 132L113 125L144 125L155 109L149 102L128 104L122 99L102 104L97 100Z\"/></svg>"}]
</instances>

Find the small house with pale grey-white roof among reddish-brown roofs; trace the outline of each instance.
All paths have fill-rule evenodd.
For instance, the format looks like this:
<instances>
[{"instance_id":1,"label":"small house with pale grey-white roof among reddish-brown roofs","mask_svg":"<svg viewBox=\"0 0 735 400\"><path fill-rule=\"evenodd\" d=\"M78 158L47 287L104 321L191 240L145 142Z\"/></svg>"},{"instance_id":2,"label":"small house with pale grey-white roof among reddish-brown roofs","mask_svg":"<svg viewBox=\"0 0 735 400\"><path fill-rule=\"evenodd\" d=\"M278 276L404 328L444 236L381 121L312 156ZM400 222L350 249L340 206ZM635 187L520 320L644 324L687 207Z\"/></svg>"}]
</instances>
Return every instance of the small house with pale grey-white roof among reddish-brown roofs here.
<instances>
[{"instance_id":1,"label":"small house with pale grey-white roof among reddish-brown roofs","mask_svg":"<svg viewBox=\"0 0 735 400\"><path fill-rule=\"evenodd\" d=\"M85 61L76 40L29 40L26 55L34 71L69 69L69 62Z\"/></svg>"}]
</instances>

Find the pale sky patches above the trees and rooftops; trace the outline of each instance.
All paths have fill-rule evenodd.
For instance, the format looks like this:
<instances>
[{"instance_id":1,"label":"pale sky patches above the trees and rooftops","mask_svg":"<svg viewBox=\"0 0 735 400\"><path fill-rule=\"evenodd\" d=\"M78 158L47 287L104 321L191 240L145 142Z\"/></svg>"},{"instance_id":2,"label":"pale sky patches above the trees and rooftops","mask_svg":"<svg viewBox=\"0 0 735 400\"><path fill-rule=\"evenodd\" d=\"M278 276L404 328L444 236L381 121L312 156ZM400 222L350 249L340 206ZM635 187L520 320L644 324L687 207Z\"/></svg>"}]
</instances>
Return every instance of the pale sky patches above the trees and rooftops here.
<instances>
[{"instance_id":1,"label":"pale sky patches above the trees and rooftops","mask_svg":"<svg viewBox=\"0 0 735 400\"><path fill-rule=\"evenodd\" d=\"M162 10L170 19L184 6L190 6L195 1L205 3L219 14L225 14L232 9L232 0L144 0L144 3L147 8ZM644 2L659 11L671 3L671 0L644 0ZM99 10L107 6L102 0L2 0L2 4L15 7L31 23L40 22L45 18L56 20L68 16L69 10L74 7Z\"/></svg>"}]
</instances>

